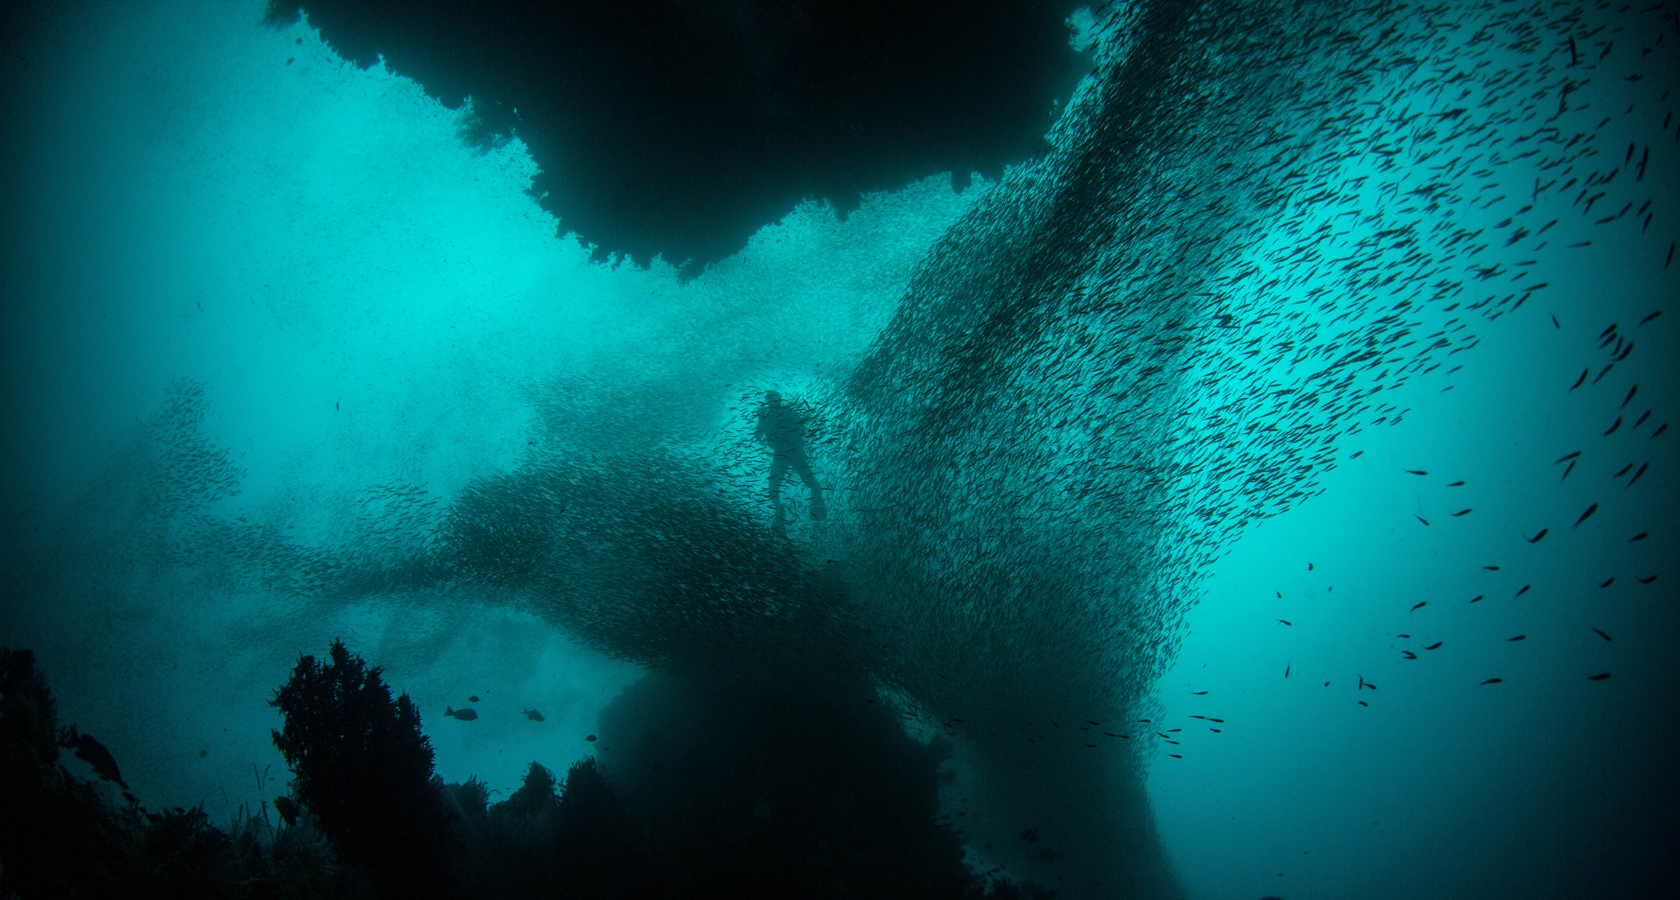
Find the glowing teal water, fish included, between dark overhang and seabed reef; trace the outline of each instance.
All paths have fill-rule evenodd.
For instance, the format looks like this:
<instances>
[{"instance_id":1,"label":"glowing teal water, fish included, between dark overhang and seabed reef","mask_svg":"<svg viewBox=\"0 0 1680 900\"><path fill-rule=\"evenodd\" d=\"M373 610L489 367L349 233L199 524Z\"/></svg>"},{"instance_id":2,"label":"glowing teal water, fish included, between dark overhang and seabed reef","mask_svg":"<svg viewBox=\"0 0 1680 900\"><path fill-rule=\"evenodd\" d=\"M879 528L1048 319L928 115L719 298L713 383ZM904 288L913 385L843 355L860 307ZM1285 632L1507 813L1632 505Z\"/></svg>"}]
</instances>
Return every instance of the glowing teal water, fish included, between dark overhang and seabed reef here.
<instances>
[{"instance_id":1,"label":"glowing teal water, fish included, between dark overhang and seabed reef","mask_svg":"<svg viewBox=\"0 0 1680 900\"><path fill-rule=\"evenodd\" d=\"M951 740L969 863L1065 897L1675 883L1673 3L1082 13L1040 158L694 277L262 15L3 35L0 645L141 803L282 793L334 636L504 793L761 653Z\"/></svg>"}]
</instances>

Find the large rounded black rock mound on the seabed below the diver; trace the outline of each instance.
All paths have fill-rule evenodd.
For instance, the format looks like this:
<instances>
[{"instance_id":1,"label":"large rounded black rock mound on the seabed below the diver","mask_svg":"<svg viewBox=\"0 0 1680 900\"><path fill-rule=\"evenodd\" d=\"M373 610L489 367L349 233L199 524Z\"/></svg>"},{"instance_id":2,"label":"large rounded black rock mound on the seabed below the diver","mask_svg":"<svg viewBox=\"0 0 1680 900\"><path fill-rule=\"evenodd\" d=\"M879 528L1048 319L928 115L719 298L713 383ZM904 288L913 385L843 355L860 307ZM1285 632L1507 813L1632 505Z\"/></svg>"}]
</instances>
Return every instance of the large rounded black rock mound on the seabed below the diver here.
<instances>
[{"instance_id":1,"label":"large rounded black rock mound on the seabed below the diver","mask_svg":"<svg viewBox=\"0 0 1680 900\"><path fill-rule=\"evenodd\" d=\"M911 740L867 683L803 675L657 673L603 710L608 781L679 893L964 897L936 821L949 746Z\"/></svg>"}]
</instances>

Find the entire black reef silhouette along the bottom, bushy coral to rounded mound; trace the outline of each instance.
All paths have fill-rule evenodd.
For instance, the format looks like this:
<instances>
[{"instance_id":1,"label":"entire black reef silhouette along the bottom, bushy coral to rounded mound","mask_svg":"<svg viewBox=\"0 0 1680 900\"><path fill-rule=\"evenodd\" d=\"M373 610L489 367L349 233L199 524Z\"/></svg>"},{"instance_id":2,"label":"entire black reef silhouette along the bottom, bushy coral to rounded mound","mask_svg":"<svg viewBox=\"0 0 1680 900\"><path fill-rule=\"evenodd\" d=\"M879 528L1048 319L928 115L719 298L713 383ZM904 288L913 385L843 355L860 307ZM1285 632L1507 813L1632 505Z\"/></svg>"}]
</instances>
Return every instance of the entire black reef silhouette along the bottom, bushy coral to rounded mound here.
<instances>
[{"instance_id":1,"label":"entire black reef silhouette along the bottom, bushy coral to rounded mound","mask_svg":"<svg viewBox=\"0 0 1680 900\"><path fill-rule=\"evenodd\" d=\"M57 729L34 657L0 650L0 897L1050 897L963 868L934 821L944 751L867 688L739 677L652 677L603 722L627 735L617 777L588 757L561 784L533 762L492 804L475 777L432 776L413 704L334 641L274 699L297 803L276 798L279 821L242 808L223 831L202 806L118 808L72 776L59 751L86 735Z\"/></svg>"}]
</instances>

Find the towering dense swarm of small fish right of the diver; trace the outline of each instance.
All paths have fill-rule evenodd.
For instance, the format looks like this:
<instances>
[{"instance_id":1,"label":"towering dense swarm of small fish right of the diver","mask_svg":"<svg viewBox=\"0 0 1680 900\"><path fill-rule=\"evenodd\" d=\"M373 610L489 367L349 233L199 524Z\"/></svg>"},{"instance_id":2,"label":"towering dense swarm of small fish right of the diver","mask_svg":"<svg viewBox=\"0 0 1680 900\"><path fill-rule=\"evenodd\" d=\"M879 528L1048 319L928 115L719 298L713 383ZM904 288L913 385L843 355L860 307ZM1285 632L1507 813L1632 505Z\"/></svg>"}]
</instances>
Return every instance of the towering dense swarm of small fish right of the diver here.
<instances>
[{"instance_id":1,"label":"towering dense swarm of small fish right of the diver","mask_svg":"<svg viewBox=\"0 0 1680 900\"><path fill-rule=\"evenodd\" d=\"M1057 151L946 235L835 400L837 521L914 648L890 677L944 710L1141 702L1203 564L1314 495L1342 438L1399 423L1386 391L1450 390L1475 327L1567 259L1559 233L1650 227L1680 131L1667 91L1620 104L1675 25L1144 7ZM1662 143L1603 148L1611 123ZM1599 376L1631 351L1611 332Z\"/></svg>"}]
</instances>

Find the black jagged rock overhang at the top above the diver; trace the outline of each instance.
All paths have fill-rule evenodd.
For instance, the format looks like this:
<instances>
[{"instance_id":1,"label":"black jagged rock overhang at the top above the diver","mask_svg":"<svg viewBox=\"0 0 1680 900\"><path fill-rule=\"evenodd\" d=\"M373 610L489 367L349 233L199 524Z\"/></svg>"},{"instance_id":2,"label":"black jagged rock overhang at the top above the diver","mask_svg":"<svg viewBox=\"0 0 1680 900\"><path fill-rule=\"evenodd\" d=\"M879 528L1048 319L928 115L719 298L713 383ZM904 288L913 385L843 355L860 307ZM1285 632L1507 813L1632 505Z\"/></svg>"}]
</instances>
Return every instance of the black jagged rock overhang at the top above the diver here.
<instances>
[{"instance_id":1,"label":"black jagged rock overhang at the top above the diver","mask_svg":"<svg viewBox=\"0 0 1680 900\"><path fill-rule=\"evenodd\" d=\"M420 82L462 136L526 143L531 191L610 254L684 275L805 198L1035 156L1089 64L1072 0L270 0ZM1006 60L1006 64L1000 64Z\"/></svg>"}]
</instances>

